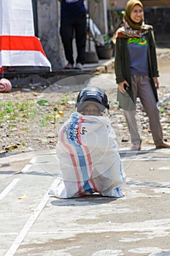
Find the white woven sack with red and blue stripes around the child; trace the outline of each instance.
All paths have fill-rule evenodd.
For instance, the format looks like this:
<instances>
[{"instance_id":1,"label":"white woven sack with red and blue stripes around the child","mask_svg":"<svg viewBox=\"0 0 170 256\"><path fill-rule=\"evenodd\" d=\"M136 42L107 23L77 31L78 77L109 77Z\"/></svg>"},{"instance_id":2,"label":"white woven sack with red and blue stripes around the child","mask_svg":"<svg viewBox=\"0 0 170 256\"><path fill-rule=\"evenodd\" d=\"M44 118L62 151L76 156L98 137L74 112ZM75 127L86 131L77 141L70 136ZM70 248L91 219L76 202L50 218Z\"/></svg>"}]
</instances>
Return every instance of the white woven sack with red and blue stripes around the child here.
<instances>
[{"instance_id":1,"label":"white woven sack with red and blue stripes around the child","mask_svg":"<svg viewBox=\"0 0 170 256\"><path fill-rule=\"evenodd\" d=\"M50 195L69 198L98 192L107 197L123 197L125 173L108 117L73 113L58 138L61 178L50 189Z\"/></svg>"}]
</instances>

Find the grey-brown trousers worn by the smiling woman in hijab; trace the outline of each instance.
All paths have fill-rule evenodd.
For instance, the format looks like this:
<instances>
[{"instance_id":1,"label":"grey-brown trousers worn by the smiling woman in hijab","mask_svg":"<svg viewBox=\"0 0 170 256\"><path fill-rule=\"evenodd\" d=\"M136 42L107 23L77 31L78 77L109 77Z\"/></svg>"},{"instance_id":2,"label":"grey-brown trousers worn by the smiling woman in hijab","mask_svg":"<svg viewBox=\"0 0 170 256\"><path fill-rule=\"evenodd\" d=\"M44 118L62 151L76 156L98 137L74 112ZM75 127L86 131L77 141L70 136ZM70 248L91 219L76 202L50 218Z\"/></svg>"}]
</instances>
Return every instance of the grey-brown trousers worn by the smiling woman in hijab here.
<instances>
[{"instance_id":1,"label":"grey-brown trousers worn by the smiling woman in hijab","mask_svg":"<svg viewBox=\"0 0 170 256\"><path fill-rule=\"evenodd\" d=\"M160 122L159 110L157 102L150 85L150 78L148 76L131 76L131 85L134 92L134 102L136 97L141 100L142 106L147 113L150 121L150 130L155 144L163 143L163 132ZM131 135L131 144L139 146L140 135L136 123L136 110L123 110L125 120L128 124L128 130Z\"/></svg>"}]
</instances>

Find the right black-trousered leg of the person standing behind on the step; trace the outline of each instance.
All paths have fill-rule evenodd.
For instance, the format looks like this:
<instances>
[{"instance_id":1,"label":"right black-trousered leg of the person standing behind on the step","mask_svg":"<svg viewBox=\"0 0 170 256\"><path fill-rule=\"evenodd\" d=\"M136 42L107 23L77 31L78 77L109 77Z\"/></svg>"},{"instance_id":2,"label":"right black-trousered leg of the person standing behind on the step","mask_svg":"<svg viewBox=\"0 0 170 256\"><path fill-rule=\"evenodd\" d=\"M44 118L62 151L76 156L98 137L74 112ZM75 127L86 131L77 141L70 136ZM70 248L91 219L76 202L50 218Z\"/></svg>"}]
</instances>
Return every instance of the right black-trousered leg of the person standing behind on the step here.
<instances>
[{"instance_id":1,"label":"right black-trousered leg of the person standing behind on the step","mask_svg":"<svg viewBox=\"0 0 170 256\"><path fill-rule=\"evenodd\" d=\"M85 42L86 42L86 14L80 15L76 18L75 23L75 37L77 46L76 63L85 63Z\"/></svg>"}]
</instances>

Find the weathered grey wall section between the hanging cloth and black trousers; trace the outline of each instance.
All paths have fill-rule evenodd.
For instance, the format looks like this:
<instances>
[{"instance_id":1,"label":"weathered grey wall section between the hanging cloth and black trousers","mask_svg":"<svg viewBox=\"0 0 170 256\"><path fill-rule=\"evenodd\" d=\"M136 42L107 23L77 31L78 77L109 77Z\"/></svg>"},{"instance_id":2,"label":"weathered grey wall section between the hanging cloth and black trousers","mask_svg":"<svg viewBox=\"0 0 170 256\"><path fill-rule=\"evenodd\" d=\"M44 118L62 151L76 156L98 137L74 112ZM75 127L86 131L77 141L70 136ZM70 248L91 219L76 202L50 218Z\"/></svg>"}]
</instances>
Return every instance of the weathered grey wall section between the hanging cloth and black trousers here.
<instances>
[{"instance_id":1,"label":"weathered grey wall section between the hanging cloth and black trousers","mask_svg":"<svg viewBox=\"0 0 170 256\"><path fill-rule=\"evenodd\" d=\"M59 34L60 3L56 0L37 0L37 35L47 59L55 71L63 67L63 45Z\"/></svg>"}]
</instances>

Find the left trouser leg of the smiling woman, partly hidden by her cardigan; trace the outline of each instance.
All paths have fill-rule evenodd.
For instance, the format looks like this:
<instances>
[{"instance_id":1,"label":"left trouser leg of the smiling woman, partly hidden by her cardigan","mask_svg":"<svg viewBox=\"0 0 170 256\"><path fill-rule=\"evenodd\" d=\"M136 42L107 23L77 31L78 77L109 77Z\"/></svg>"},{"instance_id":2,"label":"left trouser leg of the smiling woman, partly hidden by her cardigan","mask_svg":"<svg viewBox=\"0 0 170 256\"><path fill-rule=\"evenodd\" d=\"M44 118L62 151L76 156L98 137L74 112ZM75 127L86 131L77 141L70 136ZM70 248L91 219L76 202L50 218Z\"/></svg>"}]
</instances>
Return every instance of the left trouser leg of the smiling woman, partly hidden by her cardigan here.
<instances>
[{"instance_id":1,"label":"left trouser leg of the smiling woman, partly hidden by her cardigan","mask_svg":"<svg viewBox=\"0 0 170 256\"><path fill-rule=\"evenodd\" d=\"M131 76L131 86L134 94L134 102L136 102L136 97L137 97L137 81L136 81L136 76ZM141 145L141 139L137 127L137 122L136 122L136 110L123 110L124 116L125 116L125 121L128 124L128 130L131 135L131 149L137 150L140 149Z\"/></svg>"}]
</instances>

